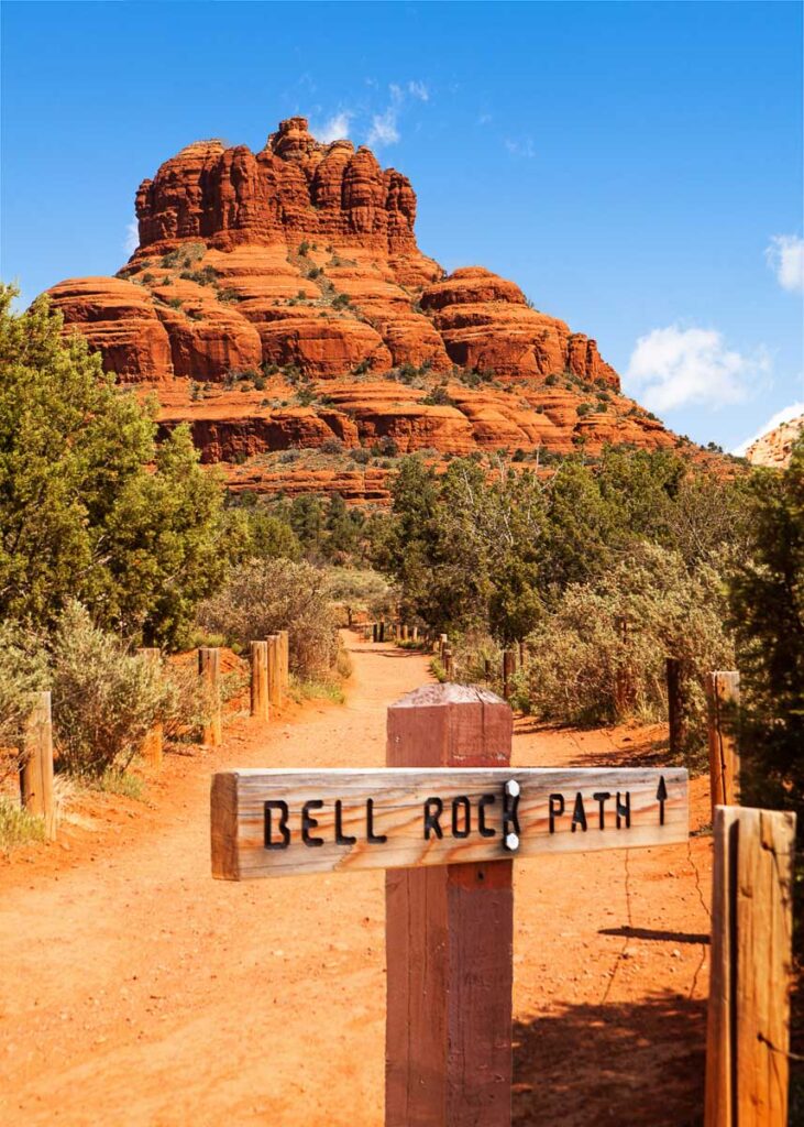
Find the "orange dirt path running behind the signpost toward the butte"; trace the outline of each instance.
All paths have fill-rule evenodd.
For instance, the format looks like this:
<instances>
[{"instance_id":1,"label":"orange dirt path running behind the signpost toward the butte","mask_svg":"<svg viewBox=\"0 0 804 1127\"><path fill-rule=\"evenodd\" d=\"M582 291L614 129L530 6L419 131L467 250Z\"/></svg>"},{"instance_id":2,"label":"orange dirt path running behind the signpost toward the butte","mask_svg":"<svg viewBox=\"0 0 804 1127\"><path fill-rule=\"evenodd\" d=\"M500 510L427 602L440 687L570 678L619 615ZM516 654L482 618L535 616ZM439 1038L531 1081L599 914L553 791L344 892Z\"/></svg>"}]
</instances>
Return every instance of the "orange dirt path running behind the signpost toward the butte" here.
<instances>
[{"instance_id":1,"label":"orange dirt path running behind the signpost toward the butte","mask_svg":"<svg viewBox=\"0 0 804 1127\"><path fill-rule=\"evenodd\" d=\"M0 1121L379 1127L383 873L208 868L211 770L382 765L385 708L427 665L354 650L345 707L238 720L220 754L169 756L150 808L0 868ZM515 762L644 758L632 737L521 724ZM708 838L515 871L515 1120L697 1122Z\"/></svg>"}]
</instances>

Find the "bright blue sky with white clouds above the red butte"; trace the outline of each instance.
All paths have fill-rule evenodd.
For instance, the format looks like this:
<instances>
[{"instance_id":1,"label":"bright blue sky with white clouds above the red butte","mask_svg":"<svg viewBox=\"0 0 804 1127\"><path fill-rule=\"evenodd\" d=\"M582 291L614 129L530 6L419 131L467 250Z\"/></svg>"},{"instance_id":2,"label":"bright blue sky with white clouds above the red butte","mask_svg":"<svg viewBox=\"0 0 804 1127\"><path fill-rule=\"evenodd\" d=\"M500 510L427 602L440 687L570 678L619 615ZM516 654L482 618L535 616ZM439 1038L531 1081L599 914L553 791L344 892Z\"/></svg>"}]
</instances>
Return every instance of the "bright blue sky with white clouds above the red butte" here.
<instances>
[{"instance_id":1,"label":"bright blue sky with white clouds above the red butte","mask_svg":"<svg viewBox=\"0 0 804 1127\"><path fill-rule=\"evenodd\" d=\"M801 43L793 2L7 0L0 270L25 300L114 273L161 161L301 113L410 176L447 269L731 449L804 401Z\"/></svg>"}]
</instances>

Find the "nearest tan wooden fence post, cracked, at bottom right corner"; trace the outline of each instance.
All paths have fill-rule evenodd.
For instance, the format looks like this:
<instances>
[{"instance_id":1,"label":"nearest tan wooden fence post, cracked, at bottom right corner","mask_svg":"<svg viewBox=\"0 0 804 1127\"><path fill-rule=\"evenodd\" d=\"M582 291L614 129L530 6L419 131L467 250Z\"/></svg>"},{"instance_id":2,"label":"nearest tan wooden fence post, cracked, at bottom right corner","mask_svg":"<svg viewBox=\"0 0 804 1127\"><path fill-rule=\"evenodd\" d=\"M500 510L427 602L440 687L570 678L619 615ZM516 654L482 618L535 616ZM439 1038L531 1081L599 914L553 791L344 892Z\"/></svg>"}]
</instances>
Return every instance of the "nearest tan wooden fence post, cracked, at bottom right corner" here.
<instances>
[{"instance_id":1,"label":"nearest tan wooden fence post, cracked, at bottom right corner","mask_svg":"<svg viewBox=\"0 0 804 1127\"><path fill-rule=\"evenodd\" d=\"M718 806L706 1127L785 1127L795 815Z\"/></svg>"}]
</instances>

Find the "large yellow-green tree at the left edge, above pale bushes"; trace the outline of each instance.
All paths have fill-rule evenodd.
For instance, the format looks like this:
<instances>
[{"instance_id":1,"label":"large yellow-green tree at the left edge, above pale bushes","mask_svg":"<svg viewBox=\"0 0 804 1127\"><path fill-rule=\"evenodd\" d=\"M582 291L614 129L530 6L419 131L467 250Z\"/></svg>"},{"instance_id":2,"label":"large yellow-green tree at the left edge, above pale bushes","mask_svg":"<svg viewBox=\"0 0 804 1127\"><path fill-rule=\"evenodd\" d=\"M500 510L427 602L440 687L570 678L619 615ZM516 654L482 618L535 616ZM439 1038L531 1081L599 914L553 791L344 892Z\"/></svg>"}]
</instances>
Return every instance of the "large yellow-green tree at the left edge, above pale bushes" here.
<instances>
[{"instance_id":1,"label":"large yellow-green tree at the left edge, above pale bushes","mask_svg":"<svg viewBox=\"0 0 804 1127\"><path fill-rule=\"evenodd\" d=\"M223 490L189 432L115 387L45 298L0 286L0 615L52 625L71 598L134 640L179 645L222 578Z\"/></svg>"}]
</instances>

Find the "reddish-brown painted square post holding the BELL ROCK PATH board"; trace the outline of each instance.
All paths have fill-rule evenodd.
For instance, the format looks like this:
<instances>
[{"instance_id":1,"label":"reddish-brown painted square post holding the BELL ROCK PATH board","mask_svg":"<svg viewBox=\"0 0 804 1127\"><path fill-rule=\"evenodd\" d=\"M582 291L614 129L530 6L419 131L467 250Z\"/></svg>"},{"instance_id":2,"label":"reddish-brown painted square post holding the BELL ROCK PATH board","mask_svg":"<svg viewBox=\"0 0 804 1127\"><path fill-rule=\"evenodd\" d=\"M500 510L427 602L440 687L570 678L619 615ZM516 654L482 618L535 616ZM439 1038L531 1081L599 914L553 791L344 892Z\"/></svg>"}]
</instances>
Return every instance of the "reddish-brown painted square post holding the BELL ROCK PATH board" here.
<instances>
[{"instance_id":1,"label":"reddish-brown painted square post holding the BELL ROCK PATH board","mask_svg":"<svg viewBox=\"0 0 804 1127\"><path fill-rule=\"evenodd\" d=\"M388 766L504 766L511 710L464 685L388 709ZM501 798L499 799L501 801ZM386 1127L510 1127L511 862L385 879Z\"/></svg>"}]
</instances>

